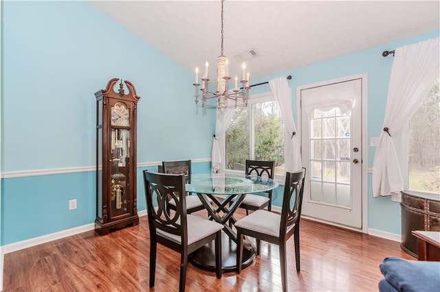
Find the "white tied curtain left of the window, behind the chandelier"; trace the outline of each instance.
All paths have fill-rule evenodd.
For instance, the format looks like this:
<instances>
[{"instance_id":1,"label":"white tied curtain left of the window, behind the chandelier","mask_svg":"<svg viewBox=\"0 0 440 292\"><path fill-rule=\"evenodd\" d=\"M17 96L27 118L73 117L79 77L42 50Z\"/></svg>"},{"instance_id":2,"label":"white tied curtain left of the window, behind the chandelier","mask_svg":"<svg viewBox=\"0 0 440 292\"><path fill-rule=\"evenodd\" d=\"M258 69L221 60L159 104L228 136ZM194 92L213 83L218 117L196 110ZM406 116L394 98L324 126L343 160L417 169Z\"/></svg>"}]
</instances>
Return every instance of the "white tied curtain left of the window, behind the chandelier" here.
<instances>
[{"instance_id":1,"label":"white tied curtain left of the window, behind the chandelier","mask_svg":"<svg viewBox=\"0 0 440 292\"><path fill-rule=\"evenodd\" d=\"M215 134L212 139L212 151L211 151L211 168L213 173L218 173L221 167L221 152L220 152L220 139L226 134L226 130L232 120L232 114L234 114L235 107L231 106L230 99L227 99L228 107L223 110L223 114L220 110L217 110L217 121L215 123Z\"/></svg>"}]
</instances>

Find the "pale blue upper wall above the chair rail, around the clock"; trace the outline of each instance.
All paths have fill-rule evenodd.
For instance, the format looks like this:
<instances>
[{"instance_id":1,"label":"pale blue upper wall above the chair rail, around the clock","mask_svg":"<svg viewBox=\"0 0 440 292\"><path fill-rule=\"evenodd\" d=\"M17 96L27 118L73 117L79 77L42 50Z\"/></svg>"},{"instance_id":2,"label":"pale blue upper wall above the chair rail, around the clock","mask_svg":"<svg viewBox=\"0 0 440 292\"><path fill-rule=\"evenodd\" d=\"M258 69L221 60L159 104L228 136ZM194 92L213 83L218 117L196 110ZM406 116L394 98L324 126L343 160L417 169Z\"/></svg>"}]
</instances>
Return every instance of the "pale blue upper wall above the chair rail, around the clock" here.
<instances>
[{"instance_id":1,"label":"pale blue upper wall above the chair rail, around the clock","mask_svg":"<svg viewBox=\"0 0 440 292\"><path fill-rule=\"evenodd\" d=\"M141 97L138 161L210 157L192 73L86 1L4 1L2 21L2 171L95 165L94 93L113 77Z\"/></svg>"}]
</instances>

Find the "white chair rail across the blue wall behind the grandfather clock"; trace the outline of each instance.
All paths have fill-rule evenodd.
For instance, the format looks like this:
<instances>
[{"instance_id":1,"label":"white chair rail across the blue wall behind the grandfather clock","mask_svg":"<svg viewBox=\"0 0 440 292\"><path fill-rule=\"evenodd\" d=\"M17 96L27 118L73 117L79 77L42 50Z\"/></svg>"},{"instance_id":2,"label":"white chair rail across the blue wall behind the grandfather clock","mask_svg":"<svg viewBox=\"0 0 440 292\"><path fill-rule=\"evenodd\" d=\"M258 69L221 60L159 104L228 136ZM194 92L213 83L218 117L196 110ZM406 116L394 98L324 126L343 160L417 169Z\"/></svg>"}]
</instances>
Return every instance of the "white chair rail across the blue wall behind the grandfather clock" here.
<instances>
[{"instance_id":1,"label":"white chair rail across the blue wall behind the grandfather clock","mask_svg":"<svg viewBox=\"0 0 440 292\"><path fill-rule=\"evenodd\" d=\"M201 159L192 159L191 162L210 162L211 158L201 158ZM140 167L154 167L156 165L162 164L162 161L159 162L140 162L137 164L137 168ZM32 170L23 170L23 171L5 171L1 173L1 178L25 178L28 176L37 176L37 175L53 175L53 174L65 174L65 173L78 173L78 172L88 172L95 171L96 166L93 167L63 167L58 169L32 169Z\"/></svg>"}]
</instances>

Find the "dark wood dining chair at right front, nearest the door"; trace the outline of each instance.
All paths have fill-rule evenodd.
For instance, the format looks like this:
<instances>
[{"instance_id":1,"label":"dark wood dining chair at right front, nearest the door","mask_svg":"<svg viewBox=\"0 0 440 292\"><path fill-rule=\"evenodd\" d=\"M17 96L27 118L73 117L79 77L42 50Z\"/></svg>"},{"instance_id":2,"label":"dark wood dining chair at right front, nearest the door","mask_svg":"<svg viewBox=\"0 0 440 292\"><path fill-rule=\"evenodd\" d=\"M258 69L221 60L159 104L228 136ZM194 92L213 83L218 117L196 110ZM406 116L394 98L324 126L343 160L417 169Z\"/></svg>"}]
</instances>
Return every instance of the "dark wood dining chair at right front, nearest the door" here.
<instances>
[{"instance_id":1,"label":"dark wood dining chair at right front, nearest the door","mask_svg":"<svg viewBox=\"0 0 440 292\"><path fill-rule=\"evenodd\" d=\"M251 215L236 221L236 272L241 272L243 259L243 236L256 239L256 254L260 254L261 241L278 245L281 262L281 282L283 291L287 291L287 239L294 234L296 271L300 271L300 217L303 204L305 168L293 173L286 173L283 206L281 215L267 210L256 210ZM292 200L294 199L294 200Z\"/></svg>"}]
</instances>

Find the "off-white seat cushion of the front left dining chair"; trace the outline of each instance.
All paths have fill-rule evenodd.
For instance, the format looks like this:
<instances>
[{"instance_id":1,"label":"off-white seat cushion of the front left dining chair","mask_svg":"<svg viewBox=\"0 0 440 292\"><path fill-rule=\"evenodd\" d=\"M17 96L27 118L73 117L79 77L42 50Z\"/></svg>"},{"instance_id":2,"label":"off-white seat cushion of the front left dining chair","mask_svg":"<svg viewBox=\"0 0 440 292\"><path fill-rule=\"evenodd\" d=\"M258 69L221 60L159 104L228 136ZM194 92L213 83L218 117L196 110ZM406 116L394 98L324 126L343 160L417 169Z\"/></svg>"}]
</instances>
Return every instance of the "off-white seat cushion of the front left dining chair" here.
<instances>
[{"instance_id":1,"label":"off-white seat cushion of the front left dining chair","mask_svg":"<svg viewBox=\"0 0 440 292\"><path fill-rule=\"evenodd\" d=\"M186 215L186 226L188 228L188 245L223 229L223 225L220 223L193 215ZM180 236L169 234L159 229L157 229L157 234L180 243Z\"/></svg>"}]
</instances>

